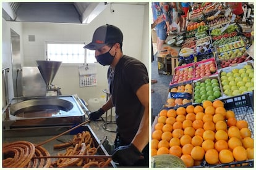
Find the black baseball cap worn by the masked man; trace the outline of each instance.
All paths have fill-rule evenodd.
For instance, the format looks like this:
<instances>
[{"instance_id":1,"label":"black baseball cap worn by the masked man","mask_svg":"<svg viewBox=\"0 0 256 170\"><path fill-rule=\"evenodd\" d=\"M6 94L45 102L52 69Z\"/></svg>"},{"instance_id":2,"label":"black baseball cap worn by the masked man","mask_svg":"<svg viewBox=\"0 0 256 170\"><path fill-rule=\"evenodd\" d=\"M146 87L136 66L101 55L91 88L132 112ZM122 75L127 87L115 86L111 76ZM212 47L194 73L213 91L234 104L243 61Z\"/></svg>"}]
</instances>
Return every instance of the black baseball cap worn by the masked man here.
<instances>
[{"instance_id":1,"label":"black baseball cap worn by the masked man","mask_svg":"<svg viewBox=\"0 0 256 170\"><path fill-rule=\"evenodd\" d=\"M100 49L109 43L122 43L122 31L114 25L103 25L93 33L92 42L84 46L85 49L96 50Z\"/></svg>"}]
</instances>

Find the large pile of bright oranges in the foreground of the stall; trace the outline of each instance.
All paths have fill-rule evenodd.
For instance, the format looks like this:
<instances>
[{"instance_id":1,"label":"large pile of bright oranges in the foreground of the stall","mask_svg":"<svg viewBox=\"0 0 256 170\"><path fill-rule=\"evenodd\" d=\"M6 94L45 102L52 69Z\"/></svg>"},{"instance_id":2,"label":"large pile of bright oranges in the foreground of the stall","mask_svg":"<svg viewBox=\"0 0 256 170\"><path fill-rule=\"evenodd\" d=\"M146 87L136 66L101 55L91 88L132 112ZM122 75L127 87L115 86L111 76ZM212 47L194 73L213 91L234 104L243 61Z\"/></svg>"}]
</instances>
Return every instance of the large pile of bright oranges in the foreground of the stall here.
<instances>
[{"instance_id":1,"label":"large pile of bright oranges in the foreground of the stall","mask_svg":"<svg viewBox=\"0 0 256 170\"><path fill-rule=\"evenodd\" d=\"M247 121L237 120L221 100L161 110L151 139L151 156L179 156L187 167L254 159Z\"/></svg>"}]
</instances>

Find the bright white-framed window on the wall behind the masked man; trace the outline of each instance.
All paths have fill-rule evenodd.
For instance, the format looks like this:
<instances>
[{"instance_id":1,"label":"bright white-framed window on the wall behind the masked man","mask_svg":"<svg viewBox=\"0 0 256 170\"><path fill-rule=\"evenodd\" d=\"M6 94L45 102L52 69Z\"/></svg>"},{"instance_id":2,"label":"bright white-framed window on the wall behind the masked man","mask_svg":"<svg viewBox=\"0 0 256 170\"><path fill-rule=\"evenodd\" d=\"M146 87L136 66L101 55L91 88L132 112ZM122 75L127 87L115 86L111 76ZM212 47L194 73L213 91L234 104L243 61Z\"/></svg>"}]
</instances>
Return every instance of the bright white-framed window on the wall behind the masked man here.
<instances>
[{"instance_id":1,"label":"bright white-framed window on the wall behind the masked man","mask_svg":"<svg viewBox=\"0 0 256 170\"><path fill-rule=\"evenodd\" d=\"M95 51L84 49L82 43L46 42L46 56L62 63L95 63Z\"/></svg>"}]
</instances>

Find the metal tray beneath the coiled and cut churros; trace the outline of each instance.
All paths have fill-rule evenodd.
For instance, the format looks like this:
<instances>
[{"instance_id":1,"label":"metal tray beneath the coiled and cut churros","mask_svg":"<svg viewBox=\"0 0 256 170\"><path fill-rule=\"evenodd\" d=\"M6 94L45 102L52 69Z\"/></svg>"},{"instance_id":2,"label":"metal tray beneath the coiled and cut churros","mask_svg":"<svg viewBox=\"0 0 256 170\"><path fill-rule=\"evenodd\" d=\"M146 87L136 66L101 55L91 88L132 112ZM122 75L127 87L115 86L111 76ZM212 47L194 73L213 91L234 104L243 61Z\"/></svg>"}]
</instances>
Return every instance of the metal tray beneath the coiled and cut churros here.
<instances>
[{"instance_id":1,"label":"metal tray beneath the coiled and cut churros","mask_svg":"<svg viewBox=\"0 0 256 170\"><path fill-rule=\"evenodd\" d=\"M64 131L67 131L72 126L54 126L54 127L27 127L27 128L17 128L17 129L7 129L2 131L2 142L3 143L11 143L15 141L25 140L28 142L32 142L33 144L40 144L41 142L50 139L53 136L57 136L58 134L61 134ZM92 128L89 125L81 126L74 131L71 131L70 133L63 135L59 137L58 139L61 140L70 140L73 139L74 134L77 134L82 131L88 131L90 132L93 142L95 144L95 147L98 147L100 144L100 140L98 137L96 137L95 133L92 131ZM61 144L57 140L52 140L51 142L46 143L45 145L42 145L46 150L48 150L50 155L58 155L58 153L64 153L64 150L54 150L53 145L54 144ZM103 145L100 145L100 148L98 148L97 155L109 155L106 149L103 147ZM54 161L54 158L53 158ZM111 161L109 164L110 168L115 168L116 164Z\"/></svg>"}]
</instances>

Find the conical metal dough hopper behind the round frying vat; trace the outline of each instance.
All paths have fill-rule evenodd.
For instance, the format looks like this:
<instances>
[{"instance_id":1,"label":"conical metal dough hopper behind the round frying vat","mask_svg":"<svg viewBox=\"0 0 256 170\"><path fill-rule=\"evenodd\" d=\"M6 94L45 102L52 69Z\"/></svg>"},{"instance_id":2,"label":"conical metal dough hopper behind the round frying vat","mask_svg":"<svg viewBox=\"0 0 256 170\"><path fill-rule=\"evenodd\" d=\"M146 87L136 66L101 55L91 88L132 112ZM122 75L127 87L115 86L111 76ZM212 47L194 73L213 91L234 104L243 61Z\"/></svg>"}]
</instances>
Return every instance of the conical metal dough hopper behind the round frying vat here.
<instances>
[{"instance_id":1,"label":"conical metal dough hopper behind the round frying vat","mask_svg":"<svg viewBox=\"0 0 256 170\"><path fill-rule=\"evenodd\" d=\"M57 95L61 95L61 91L59 87L52 85L53 79L59 70L62 62L57 61L50 61L50 60L37 60L38 69L43 76L43 79L46 83L46 90L47 91L54 91L57 92Z\"/></svg>"}]
</instances>

